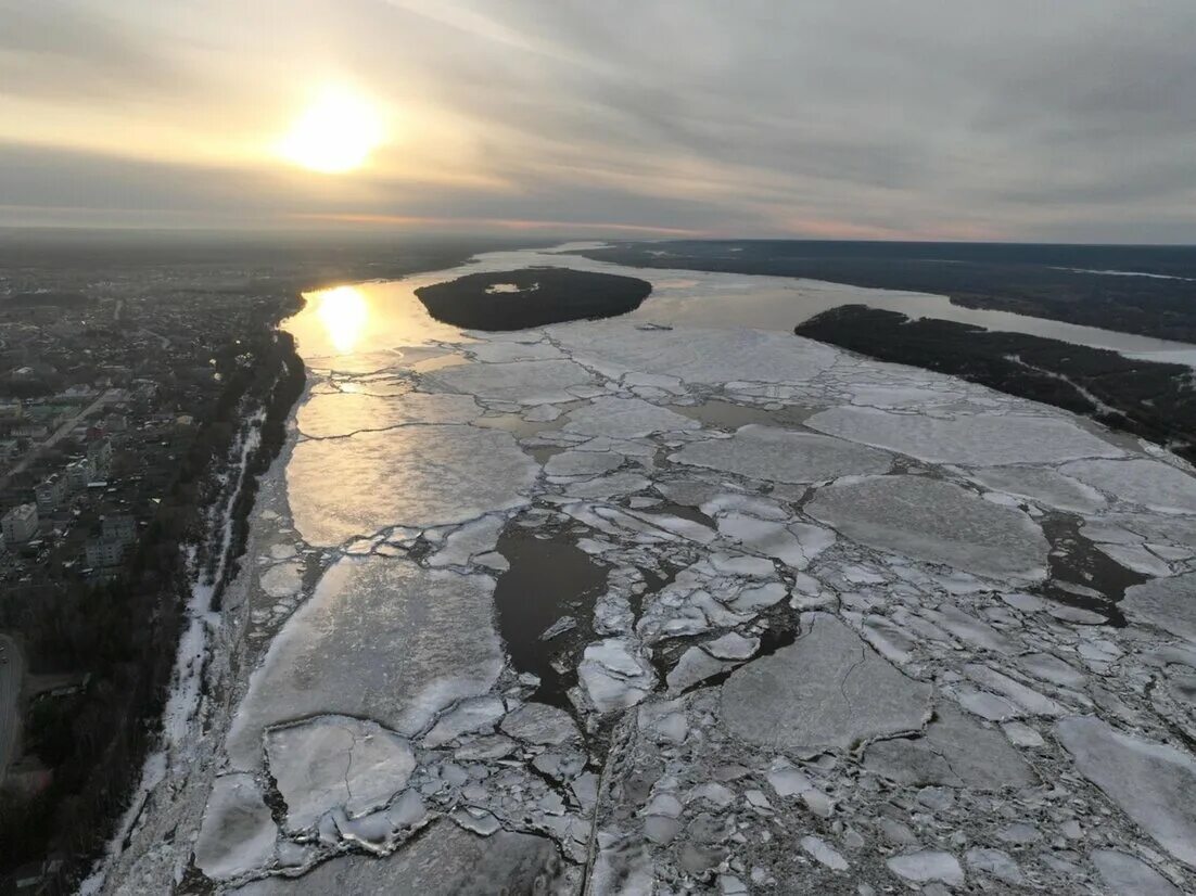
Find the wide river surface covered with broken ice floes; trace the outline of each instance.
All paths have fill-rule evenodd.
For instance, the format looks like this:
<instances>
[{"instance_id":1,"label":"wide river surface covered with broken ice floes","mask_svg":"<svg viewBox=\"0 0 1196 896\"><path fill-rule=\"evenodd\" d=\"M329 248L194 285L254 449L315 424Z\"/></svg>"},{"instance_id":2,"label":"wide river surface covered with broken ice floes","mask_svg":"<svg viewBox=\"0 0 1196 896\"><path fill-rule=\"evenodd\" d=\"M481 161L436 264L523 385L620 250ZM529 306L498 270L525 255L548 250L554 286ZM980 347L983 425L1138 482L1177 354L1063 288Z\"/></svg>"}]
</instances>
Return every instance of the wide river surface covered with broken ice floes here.
<instances>
[{"instance_id":1,"label":"wide river surface covered with broken ice floes","mask_svg":"<svg viewBox=\"0 0 1196 896\"><path fill-rule=\"evenodd\" d=\"M767 278L501 335L411 296L537 264L628 272L499 252L292 321L207 734L109 891L1196 891L1189 467L652 320Z\"/></svg>"}]
</instances>

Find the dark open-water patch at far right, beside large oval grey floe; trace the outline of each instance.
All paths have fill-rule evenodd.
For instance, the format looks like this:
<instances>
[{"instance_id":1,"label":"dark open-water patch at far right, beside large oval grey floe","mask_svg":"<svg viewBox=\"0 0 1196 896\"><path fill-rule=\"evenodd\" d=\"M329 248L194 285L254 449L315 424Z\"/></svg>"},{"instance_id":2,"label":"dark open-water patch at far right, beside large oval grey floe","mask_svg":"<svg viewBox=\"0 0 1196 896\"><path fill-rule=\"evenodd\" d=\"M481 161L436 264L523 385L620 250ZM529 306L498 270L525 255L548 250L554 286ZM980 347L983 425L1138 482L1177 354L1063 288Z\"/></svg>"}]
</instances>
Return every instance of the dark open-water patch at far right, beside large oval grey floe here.
<instances>
[{"instance_id":1,"label":"dark open-water patch at far right, beside large oval grey floe","mask_svg":"<svg viewBox=\"0 0 1196 896\"><path fill-rule=\"evenodd\" d=\"M1090 609L1109 616L1110 625L1122 627L1125 616L1117 605L1125 589L1142 584L1147 576L1127 569L1080 534L1080 520L1067 514L1051 514L1042 521L1043 534L1051 545L1049 575L1036 593L1058 603ZM1080 585L1099 593L1099 597L1075 594L1061 583Z\"/></svg>"}]
</instances>

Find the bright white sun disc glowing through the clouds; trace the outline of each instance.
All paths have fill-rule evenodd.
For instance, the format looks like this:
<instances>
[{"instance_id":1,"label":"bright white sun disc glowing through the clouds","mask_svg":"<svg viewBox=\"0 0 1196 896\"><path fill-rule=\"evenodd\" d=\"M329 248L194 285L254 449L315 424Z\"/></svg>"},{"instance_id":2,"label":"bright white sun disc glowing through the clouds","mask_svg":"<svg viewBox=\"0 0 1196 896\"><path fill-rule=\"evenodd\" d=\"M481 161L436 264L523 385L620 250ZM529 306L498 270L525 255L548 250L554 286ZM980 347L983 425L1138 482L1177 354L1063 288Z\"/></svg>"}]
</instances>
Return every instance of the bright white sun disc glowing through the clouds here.
<instances>
[{"instance_id":1,"label":"bright white sun disc glowing through the clouds","mask_svg":"<svg viewBox=\"0 0 1196 896\"><path fill-rule=\"evenodd\" d=\"M295 165L325 174L360 168L384 139L382 116L361 97L325 88L283 137L280 151Z\"/></svg>"}]
</instances>

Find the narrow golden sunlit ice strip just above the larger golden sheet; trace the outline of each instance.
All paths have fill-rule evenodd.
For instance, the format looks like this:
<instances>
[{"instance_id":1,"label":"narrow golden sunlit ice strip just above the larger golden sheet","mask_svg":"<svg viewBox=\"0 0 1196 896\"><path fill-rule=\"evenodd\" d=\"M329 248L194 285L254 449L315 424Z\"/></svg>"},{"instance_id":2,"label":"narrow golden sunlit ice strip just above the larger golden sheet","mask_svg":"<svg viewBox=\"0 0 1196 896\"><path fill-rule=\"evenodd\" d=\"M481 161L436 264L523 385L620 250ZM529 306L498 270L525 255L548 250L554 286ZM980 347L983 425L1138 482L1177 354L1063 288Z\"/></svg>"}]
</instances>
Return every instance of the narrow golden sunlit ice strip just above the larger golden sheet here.
<instances>
[{"instance_id":1,"label":"narrow golden sunlit ice strip just above the larger golden sheet","mask_svg":"<svg viewBox=\"0 0 1196 896\"><path fill-rule=\"evenodd\" d=\"M310 438L347 436L409 423L469 423L482 413L471 395L407 392L393 398L362 393L311 395L295 416Z\"/></svg>"}]
</instances>

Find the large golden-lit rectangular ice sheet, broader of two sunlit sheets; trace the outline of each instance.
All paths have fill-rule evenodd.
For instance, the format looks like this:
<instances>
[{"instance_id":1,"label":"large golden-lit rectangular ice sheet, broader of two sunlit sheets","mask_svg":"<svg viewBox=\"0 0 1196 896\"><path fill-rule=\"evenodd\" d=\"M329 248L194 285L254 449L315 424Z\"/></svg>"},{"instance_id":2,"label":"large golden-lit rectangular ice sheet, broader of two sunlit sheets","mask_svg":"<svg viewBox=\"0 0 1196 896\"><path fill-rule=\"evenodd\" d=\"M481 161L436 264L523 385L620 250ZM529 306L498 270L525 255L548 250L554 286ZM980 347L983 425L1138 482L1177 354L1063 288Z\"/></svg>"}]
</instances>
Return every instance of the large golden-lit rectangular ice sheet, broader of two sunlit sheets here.
<instances>
[{"instance_id":1,"label":"large golden-lit rectangular ice sheet, broader of two sunlit sheets","mask_svg":"<svg viewBox=\"0 0 1196 896\"><path fill-rule=\"evenodd\" d=\"M304 540L330 547L391 526L427 528L521 507L537 471L507 432L410 425L300 442L287 489Z\"/></svg>"}]
</instances>

